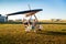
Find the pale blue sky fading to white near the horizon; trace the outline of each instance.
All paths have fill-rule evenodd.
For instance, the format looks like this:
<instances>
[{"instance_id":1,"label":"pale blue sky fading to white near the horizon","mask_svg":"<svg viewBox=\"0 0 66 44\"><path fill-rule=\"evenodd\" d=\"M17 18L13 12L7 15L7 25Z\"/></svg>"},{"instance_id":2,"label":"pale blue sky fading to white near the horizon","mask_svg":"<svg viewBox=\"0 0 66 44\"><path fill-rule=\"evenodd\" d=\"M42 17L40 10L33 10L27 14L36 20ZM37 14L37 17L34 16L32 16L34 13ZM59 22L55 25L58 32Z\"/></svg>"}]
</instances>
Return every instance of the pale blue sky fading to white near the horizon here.
<instances>
[{"instance_id":1,"label":"pale blue sky fading to white near the horizon","mask_svg":"<svg viewBox=\"0 0 66 44\"><path fill-rule=\"evenodd\" d=\"M66 20L66 0L0 0L0 14L29 10L43 9L36 13L37 19L65 19ZM10 15L9 20L23 19L23 14Z\"/></svg>"}]
</instances>

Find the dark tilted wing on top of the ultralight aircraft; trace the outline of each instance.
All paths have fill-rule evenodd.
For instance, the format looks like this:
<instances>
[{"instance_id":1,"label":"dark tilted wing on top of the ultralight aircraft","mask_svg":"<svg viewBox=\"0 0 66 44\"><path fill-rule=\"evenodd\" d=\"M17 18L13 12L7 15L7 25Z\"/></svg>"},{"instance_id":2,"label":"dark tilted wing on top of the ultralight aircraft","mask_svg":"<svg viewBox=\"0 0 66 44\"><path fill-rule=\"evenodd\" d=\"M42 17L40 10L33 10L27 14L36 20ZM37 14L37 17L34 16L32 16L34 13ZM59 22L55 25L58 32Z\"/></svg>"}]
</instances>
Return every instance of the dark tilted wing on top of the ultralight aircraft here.
<instances>
[{"instance_id":1,"label":"dark tilted wing on top of the ultralight aircraft","mask_svg":"<svg viewBox=\"0 0 66 44\"><path fill-rule=\"evenodd\" d=\"M35 14L36 12L40 12L40 11L42 11L42 9L19 11L19 12L10 13L10 14L7 14L7 15L26 14L26 16L29 16L29 15L33 15L33 14Z\"/></svg>"}]
</instances>

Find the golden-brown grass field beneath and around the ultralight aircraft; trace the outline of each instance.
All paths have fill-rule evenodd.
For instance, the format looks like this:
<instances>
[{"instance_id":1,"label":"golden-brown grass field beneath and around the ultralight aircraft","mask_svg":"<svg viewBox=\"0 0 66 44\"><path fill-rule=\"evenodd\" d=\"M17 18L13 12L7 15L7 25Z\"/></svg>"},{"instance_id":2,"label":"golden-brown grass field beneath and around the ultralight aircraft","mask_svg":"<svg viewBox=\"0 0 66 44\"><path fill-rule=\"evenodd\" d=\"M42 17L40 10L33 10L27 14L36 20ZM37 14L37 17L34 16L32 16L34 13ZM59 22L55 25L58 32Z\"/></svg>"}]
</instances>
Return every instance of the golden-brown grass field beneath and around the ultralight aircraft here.
<instances>
[{"instance_id":1,"label":"golden-brown grass field beneath and around the ultralight aircraft","mask_svg":"<svg viewBox=\"0 0 66 44\"><path fill-rule=\"evenodd\" d=\"M23 24L0 24L0 44L66 44L66 24L42 24L43 31L24 31Z\"/></svg>"}]
</instances>

